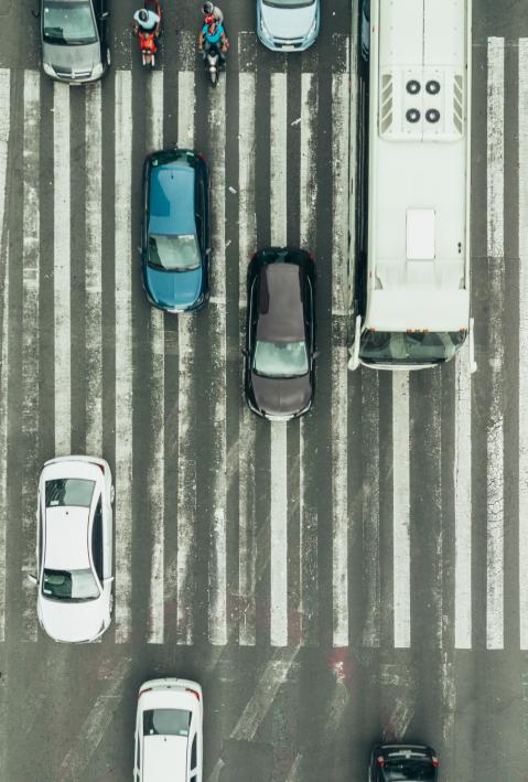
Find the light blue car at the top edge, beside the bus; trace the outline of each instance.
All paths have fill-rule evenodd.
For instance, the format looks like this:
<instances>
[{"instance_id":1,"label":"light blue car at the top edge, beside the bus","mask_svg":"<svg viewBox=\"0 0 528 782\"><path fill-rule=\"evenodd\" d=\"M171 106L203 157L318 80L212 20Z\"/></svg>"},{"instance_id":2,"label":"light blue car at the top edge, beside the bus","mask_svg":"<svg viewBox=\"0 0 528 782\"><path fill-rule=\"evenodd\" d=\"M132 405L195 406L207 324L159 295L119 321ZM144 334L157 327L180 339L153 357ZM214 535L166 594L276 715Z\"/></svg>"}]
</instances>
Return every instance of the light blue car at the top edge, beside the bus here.
<instances>
[{"instance_id":1,"label":"light blue car at the top edge, beside the bus","mask_svg":"<svg viewBox=\"0 0 528 782\"><path fill-rule=\"evenodd\" d=\"M273 52L302 52L319 25L320 0L257 0L257 35Z\"/></svg>"}]
</instances>

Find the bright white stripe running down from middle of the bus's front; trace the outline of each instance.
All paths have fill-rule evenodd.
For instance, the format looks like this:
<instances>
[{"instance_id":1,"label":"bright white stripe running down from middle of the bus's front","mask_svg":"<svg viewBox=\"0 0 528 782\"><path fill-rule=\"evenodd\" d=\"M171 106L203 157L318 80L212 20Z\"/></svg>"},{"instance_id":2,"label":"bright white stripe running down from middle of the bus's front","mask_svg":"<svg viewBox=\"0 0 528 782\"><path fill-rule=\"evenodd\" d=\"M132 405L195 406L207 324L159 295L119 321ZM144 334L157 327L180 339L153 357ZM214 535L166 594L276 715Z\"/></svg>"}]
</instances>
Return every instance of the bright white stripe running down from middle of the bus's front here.
<instances>
[{"instance_id":1,"label":"bright white stripe running down from middle of the bus's front","mask_svg":"<svg viewBox=\"0 0 528 782\"><path fill-rule=\"evenodd\" d=\"M409 373L392 373L392 582L395 647L411 644Z\"/></svg>"}]
</instances>

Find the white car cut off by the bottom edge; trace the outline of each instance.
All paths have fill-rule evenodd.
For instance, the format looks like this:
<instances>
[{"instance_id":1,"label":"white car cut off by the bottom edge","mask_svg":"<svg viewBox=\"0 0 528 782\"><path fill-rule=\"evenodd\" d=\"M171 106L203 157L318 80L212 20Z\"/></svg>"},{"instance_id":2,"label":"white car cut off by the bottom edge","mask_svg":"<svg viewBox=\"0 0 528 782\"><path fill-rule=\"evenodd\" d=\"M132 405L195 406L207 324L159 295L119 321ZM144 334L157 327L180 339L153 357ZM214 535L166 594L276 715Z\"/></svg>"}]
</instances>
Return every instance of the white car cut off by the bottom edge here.
<instances>
[{"instance_id":1,"label":"white car cut off by the bottom edge","mask_svg":"<svg viewBox=\"0 0 528 782\"><path fill-rule=\"evenodd\" d=\"M133 782L202 782L202 687L185 678L141 685Z\"/></svg>"}]
</instances>

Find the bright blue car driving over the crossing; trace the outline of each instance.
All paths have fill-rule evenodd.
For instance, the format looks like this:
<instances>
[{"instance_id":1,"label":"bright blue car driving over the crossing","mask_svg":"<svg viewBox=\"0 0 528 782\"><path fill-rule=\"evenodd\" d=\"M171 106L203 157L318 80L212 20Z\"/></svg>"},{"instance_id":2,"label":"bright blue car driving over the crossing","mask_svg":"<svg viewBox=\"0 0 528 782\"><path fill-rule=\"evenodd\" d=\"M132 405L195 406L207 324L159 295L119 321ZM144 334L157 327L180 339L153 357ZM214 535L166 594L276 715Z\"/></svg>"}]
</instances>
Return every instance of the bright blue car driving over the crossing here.
<instances>
[{"instance_id":1,"label":"bright blue car driving over the crossing","mask_svg":"<svg viewBox=\"0 0 528 782\"><path fill-rule=\"evenodd\" d=\"M208 298L209 176L202 154L153 152L143 167L143 286L154 307L191 312Z\"/></svg>"}]
</instances>

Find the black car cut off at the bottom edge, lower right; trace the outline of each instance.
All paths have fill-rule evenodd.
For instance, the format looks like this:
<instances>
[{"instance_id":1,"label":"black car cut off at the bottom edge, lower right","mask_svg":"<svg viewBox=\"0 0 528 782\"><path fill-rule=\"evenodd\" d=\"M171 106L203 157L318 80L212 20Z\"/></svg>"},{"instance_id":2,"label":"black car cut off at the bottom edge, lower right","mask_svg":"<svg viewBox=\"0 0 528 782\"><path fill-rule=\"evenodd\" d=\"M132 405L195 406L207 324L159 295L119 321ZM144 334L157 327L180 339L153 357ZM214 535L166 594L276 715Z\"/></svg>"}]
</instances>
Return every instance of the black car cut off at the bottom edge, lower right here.
<instances>
[{"instance_id":1,"label":"black car cut off at the bottom edge, lower right","mask_svg":"<svg viewBox=\"0 0 528 782\"><path fill-rule=\"evenodd\" d=\"M368 782L438 782L439 761L427 744L373 747Z\"/></svg>"}]
</instances>

